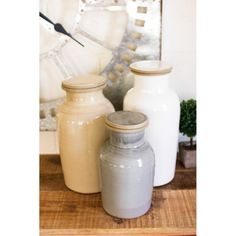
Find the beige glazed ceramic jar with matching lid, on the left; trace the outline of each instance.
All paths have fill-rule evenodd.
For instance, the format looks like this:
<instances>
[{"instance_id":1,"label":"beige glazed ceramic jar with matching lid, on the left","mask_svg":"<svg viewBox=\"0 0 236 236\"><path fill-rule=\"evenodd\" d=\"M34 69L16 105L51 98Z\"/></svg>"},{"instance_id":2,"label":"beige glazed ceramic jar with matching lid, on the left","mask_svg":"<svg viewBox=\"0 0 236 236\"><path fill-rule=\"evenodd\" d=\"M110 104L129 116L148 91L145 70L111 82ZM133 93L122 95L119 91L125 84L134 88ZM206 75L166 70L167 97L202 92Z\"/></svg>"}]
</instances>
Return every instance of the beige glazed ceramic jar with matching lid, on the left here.
<instances>
[{"instance_id":1,"label":"beige glazed ceramic jar with matching lid, on the left","mask_svg":"<svg viewBox=\"0 0 236 236\"><path fill-rule=\"evenodd\" d=\"M106 81L87 75L62 82L67 97L57 113L65 184L80 193L101 191L99 151L108 138L105 115L114 111L104 97Z\"/></svg>"}]
</instances>

